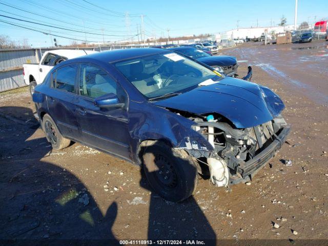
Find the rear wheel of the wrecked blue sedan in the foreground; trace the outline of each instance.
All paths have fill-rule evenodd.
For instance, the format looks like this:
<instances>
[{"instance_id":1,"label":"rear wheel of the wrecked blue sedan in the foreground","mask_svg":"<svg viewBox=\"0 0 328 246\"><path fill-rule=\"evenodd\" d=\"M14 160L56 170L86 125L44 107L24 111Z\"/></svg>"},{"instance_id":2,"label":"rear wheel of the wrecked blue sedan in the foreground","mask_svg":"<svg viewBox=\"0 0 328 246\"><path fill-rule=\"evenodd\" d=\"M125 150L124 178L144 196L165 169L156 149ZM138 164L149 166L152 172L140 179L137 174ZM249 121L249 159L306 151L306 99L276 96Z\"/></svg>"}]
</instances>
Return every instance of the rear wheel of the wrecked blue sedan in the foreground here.
<instances>
[{"instance_id":1,"label":"rear wheel of the wrecked blue sedan in the foreground","mask_svg":"<svg viewBox=\"0 0 328 246\"><path fill-rule=\"evenodd\" d=\"M42 129L46 135L47 141L50 142L54 150L61 150L70 145L71 140L60 134L55 121L49 114L45 114L42 119Z\"/></svg>"}]
</instances>

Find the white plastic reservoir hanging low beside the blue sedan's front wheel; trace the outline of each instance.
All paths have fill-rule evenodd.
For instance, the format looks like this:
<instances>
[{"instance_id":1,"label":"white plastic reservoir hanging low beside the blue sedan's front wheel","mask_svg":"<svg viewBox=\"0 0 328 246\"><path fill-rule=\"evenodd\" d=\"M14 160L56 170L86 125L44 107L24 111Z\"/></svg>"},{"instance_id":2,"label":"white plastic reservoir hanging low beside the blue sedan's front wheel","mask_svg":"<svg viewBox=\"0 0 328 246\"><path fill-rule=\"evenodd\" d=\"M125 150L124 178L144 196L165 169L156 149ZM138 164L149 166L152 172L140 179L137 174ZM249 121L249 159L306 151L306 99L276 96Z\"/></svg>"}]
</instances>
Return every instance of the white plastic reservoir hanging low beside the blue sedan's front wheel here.
<instances>
[{"instance_id":1,"label":"white plastic reservoir hanging low beside the blue sedan's front wheel","mask_svg":"<svg viewBox=\"0 0 328 246\"><path fill-rule=\"evenodd\" d=\"M207 159L210 169L211 182L216 187L228 187L229 170L227 163L221 158L210 157Z\"/></svg>"}]
</instances>

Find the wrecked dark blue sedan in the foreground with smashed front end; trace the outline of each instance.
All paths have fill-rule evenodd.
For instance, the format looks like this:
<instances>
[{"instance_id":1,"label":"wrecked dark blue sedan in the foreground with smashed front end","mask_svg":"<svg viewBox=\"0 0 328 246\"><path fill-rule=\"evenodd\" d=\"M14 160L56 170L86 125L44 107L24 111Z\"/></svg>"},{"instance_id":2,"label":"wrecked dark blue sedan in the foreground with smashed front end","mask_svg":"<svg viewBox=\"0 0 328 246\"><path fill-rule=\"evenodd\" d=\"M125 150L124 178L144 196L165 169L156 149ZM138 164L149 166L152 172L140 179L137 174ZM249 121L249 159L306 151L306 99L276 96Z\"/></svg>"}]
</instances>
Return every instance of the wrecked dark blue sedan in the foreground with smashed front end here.
<instances>
[{"instance_id":1,"label":"wrecked dark blue sedan in the foreground with smashed front end","mask_svg":"<svg viewBox=\"0 0 328 246\"><path fill-rule=\"evenodd\" d=\"M193 194L197 173L217 187L250 180L290 131L267 87L162 49L64 61L33 101L54 149L78 141L136 163L171 201Z\"/></svg>"}]
</instances>

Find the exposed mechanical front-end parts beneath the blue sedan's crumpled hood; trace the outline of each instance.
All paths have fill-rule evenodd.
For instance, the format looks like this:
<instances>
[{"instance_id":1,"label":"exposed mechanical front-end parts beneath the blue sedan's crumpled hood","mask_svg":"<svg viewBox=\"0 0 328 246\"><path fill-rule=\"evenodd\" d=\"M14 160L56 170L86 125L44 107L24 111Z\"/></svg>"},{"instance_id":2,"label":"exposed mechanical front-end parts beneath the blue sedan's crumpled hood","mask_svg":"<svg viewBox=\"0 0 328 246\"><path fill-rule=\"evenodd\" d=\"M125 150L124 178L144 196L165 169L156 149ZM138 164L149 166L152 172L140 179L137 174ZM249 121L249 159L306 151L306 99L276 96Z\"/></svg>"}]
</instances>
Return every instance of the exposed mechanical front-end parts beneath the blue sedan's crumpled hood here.
<instances>
[{"instance_id":1,"label":"exposed mechanical front-end parts beneath the blue sedan's crumpled hood","mask_svg":"<svg viewBox=\"0 0 328 246\"><path fill-rule=\"evenodd\" d=\"M226 179L229 180L229 174L235 178L241 177L238 167L245 167L247 161L267 148L286 125L281 116L245 129L236 129L229 122L224 122L224 119L212 114L202 118L195 117L193 120L196 122L193 129L214 147L215 153L197 153L195 157L206 158L211 181L216 186L228 185Z\"/></svg>"}]
</instances>

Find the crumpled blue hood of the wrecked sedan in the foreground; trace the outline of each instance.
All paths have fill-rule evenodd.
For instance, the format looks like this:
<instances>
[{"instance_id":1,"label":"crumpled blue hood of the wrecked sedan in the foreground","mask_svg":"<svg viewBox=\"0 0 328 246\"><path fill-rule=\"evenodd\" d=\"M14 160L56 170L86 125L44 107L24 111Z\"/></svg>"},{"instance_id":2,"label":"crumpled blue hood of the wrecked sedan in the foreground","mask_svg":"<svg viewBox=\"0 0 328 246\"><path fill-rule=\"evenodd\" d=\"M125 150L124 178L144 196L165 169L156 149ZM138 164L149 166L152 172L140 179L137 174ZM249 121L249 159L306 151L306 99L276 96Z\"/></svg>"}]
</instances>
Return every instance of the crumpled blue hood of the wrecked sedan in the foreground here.
<instances>
[{"instance_id":1,"label":"crumpled blue hood of the wrecked sedan in the foreground","mask_svg":"<svg viewBox=\"0 0 328 246\"><path fill-rule=\"evenodd\" d=\"M236 128L268 122L284 108L282 100L269 88L232 77L153 104L198 115L218 113Z\"/></svg>"}]
</instances>

